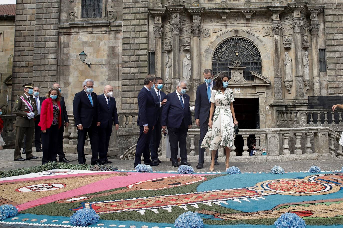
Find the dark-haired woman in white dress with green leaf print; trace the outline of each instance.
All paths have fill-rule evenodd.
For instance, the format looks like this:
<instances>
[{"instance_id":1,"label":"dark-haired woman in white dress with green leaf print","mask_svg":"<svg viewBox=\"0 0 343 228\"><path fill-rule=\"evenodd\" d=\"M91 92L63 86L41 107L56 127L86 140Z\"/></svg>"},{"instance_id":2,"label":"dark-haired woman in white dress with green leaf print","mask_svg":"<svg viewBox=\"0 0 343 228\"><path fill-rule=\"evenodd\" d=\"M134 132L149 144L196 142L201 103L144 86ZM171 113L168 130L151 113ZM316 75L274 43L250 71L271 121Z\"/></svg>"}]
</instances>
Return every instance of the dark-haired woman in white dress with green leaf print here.
<instances>
[{"instance_id":1,"label":"dark-haired woman in white dress with green leaf print","mask_svg":"<svg viewBox=\"0 0 343 228\"><path fill-rule=\"evenodd\" d=\"M228 81L229 78L223 72L212 89L209 130L201 144L202 148L209 148L212 153L210 171L214 170L215 153L219 148L225 147L226 169L229 167L230 151L234 143L234 124L238 124L232 104L235 99L232 89L227 88Z\"/></svg>"}]
</instances>

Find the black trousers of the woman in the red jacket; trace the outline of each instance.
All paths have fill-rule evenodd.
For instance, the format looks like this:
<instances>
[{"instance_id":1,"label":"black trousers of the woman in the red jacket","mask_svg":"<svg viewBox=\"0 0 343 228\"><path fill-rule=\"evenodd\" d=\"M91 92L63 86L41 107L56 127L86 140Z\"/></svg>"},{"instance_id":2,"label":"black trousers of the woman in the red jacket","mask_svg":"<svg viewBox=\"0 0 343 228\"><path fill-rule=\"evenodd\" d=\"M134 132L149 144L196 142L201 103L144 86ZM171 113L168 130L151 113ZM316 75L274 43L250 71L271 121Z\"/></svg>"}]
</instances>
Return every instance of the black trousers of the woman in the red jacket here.
<instances>
[{"instance_id":1,"label":"black trousers of the woman in the red jacket","mask_svg":"<svg viewBox=\"0 0 343 228\"><path fill-rule=\"evenodd\" d=\"M42 165L49 161L56 161L57 157L57 142L58 142L58 124L51 125L46 129L46 133L42 132L42 146L43 146L43 158Z\"/></svg>"}]
</instances>

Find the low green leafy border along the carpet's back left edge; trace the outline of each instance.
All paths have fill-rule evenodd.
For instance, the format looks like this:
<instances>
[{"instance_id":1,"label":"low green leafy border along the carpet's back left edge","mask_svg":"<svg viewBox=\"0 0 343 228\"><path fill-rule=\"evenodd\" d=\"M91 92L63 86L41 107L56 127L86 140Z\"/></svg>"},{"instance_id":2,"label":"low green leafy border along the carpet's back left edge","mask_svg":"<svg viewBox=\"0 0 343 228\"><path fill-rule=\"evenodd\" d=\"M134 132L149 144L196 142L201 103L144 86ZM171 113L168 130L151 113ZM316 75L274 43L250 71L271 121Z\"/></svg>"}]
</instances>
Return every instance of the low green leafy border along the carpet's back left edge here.
<instances>
[{"instance_id":1,"label":"low green leafy border along the carpet's back left edge","mask_svg":"<svg viewBox=\"0 0 343 228\"><path fill-rule=\"evenodd\" d=\"M56 161L46 163L39 166L31 166L28 168L10 169L7 171L0 171L0 178L14 177L29 173L43 172L51 169L74 169L74 170L93 170L93 171L116 171L118 167L107 165L88 165L88 164L70 164L58 163Z\"/></svg>"}]
</instances>

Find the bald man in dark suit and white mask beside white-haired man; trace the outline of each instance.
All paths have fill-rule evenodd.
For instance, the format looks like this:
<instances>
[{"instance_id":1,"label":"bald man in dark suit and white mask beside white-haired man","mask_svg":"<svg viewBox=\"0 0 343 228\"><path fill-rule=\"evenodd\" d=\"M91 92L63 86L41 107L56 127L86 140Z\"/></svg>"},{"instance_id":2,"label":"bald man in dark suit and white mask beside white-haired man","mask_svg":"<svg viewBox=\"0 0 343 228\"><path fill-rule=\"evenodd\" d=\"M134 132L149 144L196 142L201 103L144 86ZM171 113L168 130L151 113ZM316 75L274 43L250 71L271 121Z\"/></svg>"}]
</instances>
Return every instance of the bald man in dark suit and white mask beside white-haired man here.
<instances>
[{"instance_id":1,"label":"bald man in dark suit and white mask beside white-haired man","mask_svg":"<svg viewBox=\"0 0 343 228\"><path fill-rule=\"evenodd\" d=\"M101 121L99 131L99 161L102 163L112 163L107 159L108 144L112 134L112 126L116 125L119 129L116 99L112 97L113 87L106 85L104 93L98 95L99 117Z\"/></svg>"}]
</instances>

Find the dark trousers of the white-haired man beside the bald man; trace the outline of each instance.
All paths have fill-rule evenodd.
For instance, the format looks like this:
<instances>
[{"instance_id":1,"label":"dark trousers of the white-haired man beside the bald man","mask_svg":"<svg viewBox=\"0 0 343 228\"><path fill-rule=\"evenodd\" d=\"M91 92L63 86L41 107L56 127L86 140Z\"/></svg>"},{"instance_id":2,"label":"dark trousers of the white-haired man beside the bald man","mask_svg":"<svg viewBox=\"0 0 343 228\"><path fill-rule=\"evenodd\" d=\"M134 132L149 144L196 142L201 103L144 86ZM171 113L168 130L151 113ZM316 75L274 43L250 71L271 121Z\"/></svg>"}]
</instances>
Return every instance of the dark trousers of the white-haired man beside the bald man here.
<instances>
[{"instance_id":1,"label":"dark trousers of the white-haired man beside the bald man","mask_svg":"<svg viewBox=\"0 0 343 228\"><path fill-rule=\"evenodd\" d=\"M96 126L96 122L93 121L91 127L83 128L82 131L78 129L78 159L79 159L79 164L85 164L86 163L84 146L85 146L87 133L89 135L89 140L91 142L91 147L92 147L91 163L94 163L95 161L98 160L98 151L99 151L98 128Z\"/></svg>"}]
</instances>

